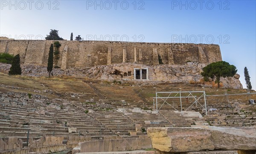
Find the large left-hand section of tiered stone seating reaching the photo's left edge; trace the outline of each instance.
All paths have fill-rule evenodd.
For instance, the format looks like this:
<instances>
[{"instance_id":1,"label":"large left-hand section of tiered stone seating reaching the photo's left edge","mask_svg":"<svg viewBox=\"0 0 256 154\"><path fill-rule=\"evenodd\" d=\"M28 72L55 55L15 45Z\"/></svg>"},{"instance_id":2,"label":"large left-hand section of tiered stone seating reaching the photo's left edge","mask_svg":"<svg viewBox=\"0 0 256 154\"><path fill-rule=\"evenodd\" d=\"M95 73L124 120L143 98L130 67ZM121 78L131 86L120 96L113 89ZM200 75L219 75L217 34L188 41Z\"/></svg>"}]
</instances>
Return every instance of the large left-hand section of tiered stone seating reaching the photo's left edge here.
<instances>
[{"instance_id":1,"label":"large left-hand section of tiered stone seating reaching the photo's left edge","mask_svg":"<svg viewBox=\"0 0 256 154\"><path fill-rule=\"evenodd\" d=\"M24 101L19 98L5 98L0 108L0 134L25 137L29 131L29 137L66 137L80 134L99 138L114 135L92 116L84 111L77 111L75 109L77 106L79 105L61 110L59 105L54 103L47 105L32 99ZM69 132L68 127L75 127L77 132Z\"/></svg>"}]
</instances>

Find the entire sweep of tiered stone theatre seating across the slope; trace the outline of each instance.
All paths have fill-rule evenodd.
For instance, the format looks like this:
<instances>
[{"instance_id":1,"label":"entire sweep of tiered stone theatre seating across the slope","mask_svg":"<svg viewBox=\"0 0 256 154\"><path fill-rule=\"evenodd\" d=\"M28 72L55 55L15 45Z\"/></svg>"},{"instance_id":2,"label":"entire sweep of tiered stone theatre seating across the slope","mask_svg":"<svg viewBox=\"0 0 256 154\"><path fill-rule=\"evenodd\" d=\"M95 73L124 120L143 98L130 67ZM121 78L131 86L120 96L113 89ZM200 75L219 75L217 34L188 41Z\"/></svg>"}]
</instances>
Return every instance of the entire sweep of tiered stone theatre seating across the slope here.
<instances>
[{"instance_id":1,"label":"entire sweep of tiered stone theatre seating across the slope","mask_svg":"<svg viewBox=\"0 0 256 154\"><path fill-rule=\"evenodd\" d=\"M113 105L104 102L84 104L63 99L29 99L0 92L0 136L7 137L1 142L8 144L7 140L15 140L15 144L26 145L29 132L29 143L53 140L49 137L55 136L60 137L58 145L67 143L69 147L74 147L84 140L144 135L141 127L146 130L148 127L256 124L256 113L250 110L252 106L246 104L233 104L239 106L234 109L209 111L203 118L195 111L183 111L181 114L173 110L160 110L160 113L156 113L120 102ZM118 107L125 109L115 110Z\"/></svg>"}]
</instances>

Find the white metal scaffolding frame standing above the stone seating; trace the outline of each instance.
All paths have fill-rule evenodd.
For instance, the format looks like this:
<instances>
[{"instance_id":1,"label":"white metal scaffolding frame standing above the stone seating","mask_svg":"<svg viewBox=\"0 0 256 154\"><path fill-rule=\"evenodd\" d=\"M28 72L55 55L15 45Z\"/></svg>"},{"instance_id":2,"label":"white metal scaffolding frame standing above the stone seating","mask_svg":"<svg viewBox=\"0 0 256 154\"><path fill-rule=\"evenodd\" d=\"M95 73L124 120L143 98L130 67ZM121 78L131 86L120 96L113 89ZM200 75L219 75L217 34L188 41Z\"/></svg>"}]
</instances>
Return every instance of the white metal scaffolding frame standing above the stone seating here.
<instances>
[{"instance_id":1,"label":"white metal scaffolding frame standing above the stone seating","mask_svg":"<svg viewBox=\"0 0 256 154\"><path fill-rule=\"evenodd\" d=\"M165 93L165 94L169 94L167 97L160 97L159 95L157 94L160 94L160 93ZM175 96L170 96L171 94L175 94ZM187 96L181 96L181 93L188 93ZM193 95L193 93L202 93L202 95L200 97L197 98L197 96ZM178 95L179 94L179 95ZM177 96L178 95L178 96ZM181 98L195 98L195 101L186 109L188 110L193 104L200 104L199 103L199 99L201 98L204 98L204 106L202 104L200 104L204 109L205 109L205 113L207 115L207 105L206 105L206 94L205 94L205 91L176 91L176 92L156 92L156 97L154 99L156 99L156 108L157 108L157 113L158 111L161 109L161 107L163 106L163 104L160 106L160 108L158 109L158 100L157 99L161 99L161 101L163 101L163 104L168 104L169 106L171 106L172 108L174 108L176 111L178 112L181 112L181 115L183 115L183 110L182 110L182 100ZM171 104L169 104L167 102L167 99L169 98L180 98L180 111L178 109L176 109L174 106L172 106ZM154 103L155 104L155 103ZM185 111L186 111L185 110Z\"/></svg>"}]
</instances>

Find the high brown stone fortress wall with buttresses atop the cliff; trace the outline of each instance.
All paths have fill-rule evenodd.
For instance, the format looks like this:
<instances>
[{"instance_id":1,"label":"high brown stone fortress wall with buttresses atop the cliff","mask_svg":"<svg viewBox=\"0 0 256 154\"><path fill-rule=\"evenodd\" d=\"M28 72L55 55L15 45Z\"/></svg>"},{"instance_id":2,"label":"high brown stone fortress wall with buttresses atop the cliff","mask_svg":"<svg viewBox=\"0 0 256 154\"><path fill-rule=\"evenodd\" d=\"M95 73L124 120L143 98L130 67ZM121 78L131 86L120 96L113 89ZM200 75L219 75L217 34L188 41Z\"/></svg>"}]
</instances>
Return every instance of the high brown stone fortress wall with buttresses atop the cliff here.
<instances>
[{"instance_id":1,"label":"high brown stone fortress wall with buttresses atop the cliff","mask_svg":"<svg viewBox=\"0 0 256 154\"><path fill-rule=\"evenodd\" d=\"M0 40L0 53L20 54L22 64L47 66L53 40ZM209 64L221 61L218 45L189 43L145 43L109 41L59 41L58 66L62 69L98 65L139 63L158 65L185 64L188 61ZM159 55L159 56L158 56Z\"/></svg>"}]
</instances>

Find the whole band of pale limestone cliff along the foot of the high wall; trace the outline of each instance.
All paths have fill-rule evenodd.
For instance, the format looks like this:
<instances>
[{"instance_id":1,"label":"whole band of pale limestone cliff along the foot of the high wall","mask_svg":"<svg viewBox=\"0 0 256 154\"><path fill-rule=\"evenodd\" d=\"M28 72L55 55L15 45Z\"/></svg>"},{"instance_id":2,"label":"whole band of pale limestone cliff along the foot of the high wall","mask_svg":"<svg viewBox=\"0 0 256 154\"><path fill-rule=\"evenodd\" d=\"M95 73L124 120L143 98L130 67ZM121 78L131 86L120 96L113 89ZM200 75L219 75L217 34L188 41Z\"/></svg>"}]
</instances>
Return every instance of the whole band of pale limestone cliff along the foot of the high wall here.
<instances>
[{"instance_id":1,"label":"whole band of pale limestone cliff along the foot of the high wall","mask_svg":"<svg viewBox=\"0 0 256 154\"><path fill-rule=\"evenodd\" d=\"M148 69L148 80L168 83L202 84L202 86L217 87L214 81L205 82L200 75L206 64L198 62L187 62L184 65L144 65L137 63L121 63L111 65L100 65L84 69L56 69L53 68L53 75L67 75L76 77L88 77L97 80L134 80L134 68ZM0 63L0 70L9 71L11 65ZM21 64L22 75L26 76L47 76L47 67L35 64ZM243 88L238 74L233 77L221 78L221 87L240 89Z\"/></svg>"}]
</instances>

